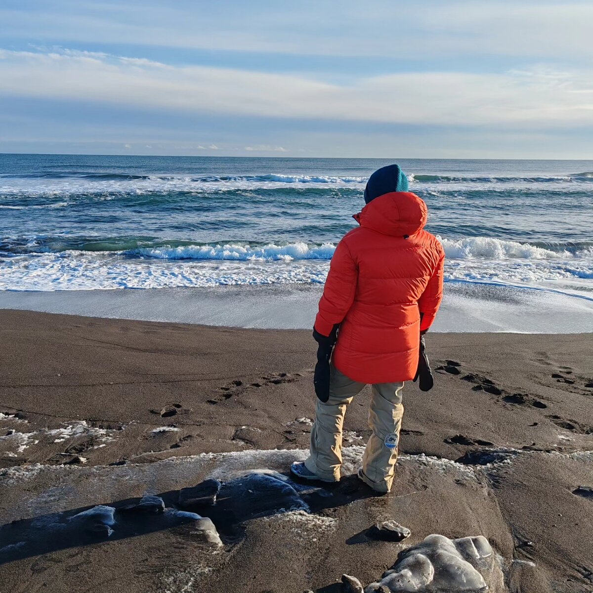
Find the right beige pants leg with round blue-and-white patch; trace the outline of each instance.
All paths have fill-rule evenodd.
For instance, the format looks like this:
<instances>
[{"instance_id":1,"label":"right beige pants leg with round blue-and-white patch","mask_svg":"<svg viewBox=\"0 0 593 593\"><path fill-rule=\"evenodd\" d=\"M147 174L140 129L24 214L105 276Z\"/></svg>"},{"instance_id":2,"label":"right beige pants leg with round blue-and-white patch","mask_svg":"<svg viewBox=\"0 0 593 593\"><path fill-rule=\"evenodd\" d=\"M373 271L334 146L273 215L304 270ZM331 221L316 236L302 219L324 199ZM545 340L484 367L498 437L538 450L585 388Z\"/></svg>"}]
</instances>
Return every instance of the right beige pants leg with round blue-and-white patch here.
<instances>
[{"instance_id":1,"label":"right beige pants leg with round blue-and-white patch","mask_svg":"<svg viewBox=\"0 0 593 593\"><path fill-rule=\"evenodd\" d=\"M372 435L362 457L363 479L378 492L389 492L397 462L400 439L401 404L400 383L378 383L372 386L369 427Z\"/></svg>"}]
</instances>

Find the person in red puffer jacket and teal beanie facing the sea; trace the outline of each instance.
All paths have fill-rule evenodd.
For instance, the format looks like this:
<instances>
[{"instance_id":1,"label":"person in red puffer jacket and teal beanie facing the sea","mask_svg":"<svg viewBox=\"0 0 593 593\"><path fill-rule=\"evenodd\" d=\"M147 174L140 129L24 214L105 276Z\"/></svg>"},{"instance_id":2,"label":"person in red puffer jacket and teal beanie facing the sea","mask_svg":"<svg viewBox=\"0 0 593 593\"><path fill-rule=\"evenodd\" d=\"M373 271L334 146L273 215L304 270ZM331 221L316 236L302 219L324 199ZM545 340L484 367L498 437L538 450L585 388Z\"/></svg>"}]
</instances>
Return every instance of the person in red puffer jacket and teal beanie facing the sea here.
<instances>
[{"instance_id":1,"label":"person in red puffer jacket and teal beanie facing the sea","mask_svg":"<svg viewBox=\"0 0 593 593\"><path fill-rule=\"evenodd\" d=\"M441 243L423 230L428 210L408 190L398 165L382 167L366 184L359 227L342 238L327 276L313 337L317 410L310 455L291 471L337 482L346 407L372 385L369 426L358 477L380 493L391 490L404 408L404 381L419 369L421 336L441 304Z\"/></svg>"}]
</instances>

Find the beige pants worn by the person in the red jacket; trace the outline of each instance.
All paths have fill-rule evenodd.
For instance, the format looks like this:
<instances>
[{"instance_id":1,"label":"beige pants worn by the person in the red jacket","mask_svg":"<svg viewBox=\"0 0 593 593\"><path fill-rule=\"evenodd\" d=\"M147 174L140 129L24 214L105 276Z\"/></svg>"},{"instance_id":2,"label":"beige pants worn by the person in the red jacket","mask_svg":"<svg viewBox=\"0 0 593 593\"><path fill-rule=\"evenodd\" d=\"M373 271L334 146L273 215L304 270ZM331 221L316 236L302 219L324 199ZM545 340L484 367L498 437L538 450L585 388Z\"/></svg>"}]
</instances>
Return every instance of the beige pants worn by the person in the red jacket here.
<instances>
[{"instance_id":1,"label":"beige pants worn by the person in the red jacket","mask_svg":"<svg viewBox=\"0 0 593 593\"><path fill-rule=\"evenodd\" d=\"M310 455L305 467L325 480L339 480L346 407L365 384L352 381L333 365L330 377L329 400L326 403L317 400ZM378 492L389 492L393 482L404 413L401 404L403 385L403 382L372 385L368 420L372 435L362 457L362 477Z\"/></svg>"}]
</instances>

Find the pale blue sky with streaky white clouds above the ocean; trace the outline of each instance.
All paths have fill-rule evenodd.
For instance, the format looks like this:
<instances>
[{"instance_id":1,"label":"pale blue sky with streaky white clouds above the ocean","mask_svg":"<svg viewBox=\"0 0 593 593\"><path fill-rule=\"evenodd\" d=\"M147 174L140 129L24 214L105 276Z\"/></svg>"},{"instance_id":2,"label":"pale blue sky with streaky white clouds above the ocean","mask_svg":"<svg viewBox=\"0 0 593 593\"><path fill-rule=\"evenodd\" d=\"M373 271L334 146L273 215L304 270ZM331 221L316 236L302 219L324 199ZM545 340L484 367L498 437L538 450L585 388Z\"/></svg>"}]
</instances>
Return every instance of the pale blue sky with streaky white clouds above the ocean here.
<instances>
[{"instance_id":1,"label":"pale blue sky with streaky white clouds above the ocean","mask_svg":"<svg viewBox=\"0 0 593 593\"><path fill-rule=\"evenodd\" d=\"M2 0L0 152L593 158L593 2Z\"/></svg>"}]
</instances>

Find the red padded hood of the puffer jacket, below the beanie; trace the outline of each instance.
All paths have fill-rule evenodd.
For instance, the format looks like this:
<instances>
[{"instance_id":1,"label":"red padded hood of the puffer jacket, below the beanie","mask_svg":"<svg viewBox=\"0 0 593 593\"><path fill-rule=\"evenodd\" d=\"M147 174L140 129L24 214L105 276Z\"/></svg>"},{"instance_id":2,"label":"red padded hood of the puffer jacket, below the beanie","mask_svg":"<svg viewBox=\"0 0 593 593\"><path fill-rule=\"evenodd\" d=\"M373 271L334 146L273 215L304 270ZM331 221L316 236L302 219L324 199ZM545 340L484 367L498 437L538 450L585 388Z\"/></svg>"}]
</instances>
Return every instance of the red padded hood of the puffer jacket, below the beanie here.
<instances>
[{"instance_id":1,"label":"red padded hood of the puffer jacket, below the beanie","mask_svg":"<svg viewBox=\"0 0 593 593\"><path fill-rule=\"evenodd\" d=\"M407 237L420 231L427 217L426 204L412 192L385 193L353 216L361 227L394 237Z\"/></svg>"}]
</instances>

